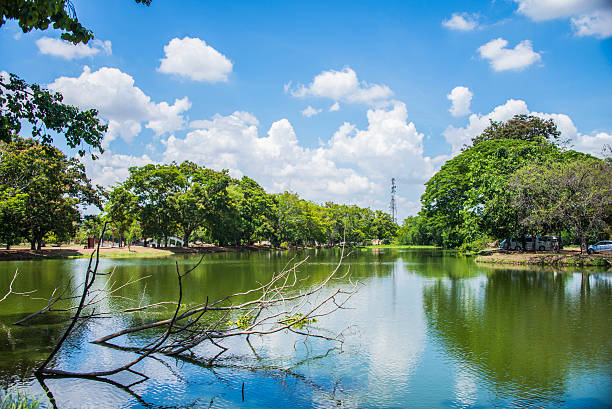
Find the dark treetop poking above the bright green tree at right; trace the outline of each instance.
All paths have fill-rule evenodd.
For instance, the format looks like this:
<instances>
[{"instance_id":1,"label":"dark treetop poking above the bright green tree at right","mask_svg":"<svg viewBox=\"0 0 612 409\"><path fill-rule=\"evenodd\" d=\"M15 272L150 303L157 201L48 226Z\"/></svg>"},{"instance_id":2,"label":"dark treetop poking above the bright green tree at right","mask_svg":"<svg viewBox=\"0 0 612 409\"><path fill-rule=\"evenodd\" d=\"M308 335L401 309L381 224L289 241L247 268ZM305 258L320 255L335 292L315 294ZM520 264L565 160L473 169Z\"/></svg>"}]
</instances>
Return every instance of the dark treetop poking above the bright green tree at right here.
<instances>
[{"instance_id":1,"label":"dark treetop poking above the bright green tree at right","mask_svg":"<svg viewBox=\"0 0 612 409\"><path fill-rule=\"evenodd\" d=\"M494 139L519 139L522 141L555 140L561 135L552 119L533 115L514 115L507 122L490 121L480 135L472 138L472 146Z\"/></svg>"}]
</instances>

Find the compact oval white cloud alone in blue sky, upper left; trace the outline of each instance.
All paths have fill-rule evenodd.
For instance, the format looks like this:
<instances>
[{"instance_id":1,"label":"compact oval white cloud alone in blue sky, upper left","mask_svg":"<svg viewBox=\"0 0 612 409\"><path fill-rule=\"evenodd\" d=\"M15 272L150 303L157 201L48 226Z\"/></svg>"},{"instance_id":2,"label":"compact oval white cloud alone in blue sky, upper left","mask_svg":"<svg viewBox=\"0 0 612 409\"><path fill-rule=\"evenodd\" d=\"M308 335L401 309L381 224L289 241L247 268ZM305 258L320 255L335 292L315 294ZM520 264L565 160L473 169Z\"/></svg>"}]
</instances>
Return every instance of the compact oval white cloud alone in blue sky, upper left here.
<instances>
[{"instance_id":1,"label":"compact oval white cloud alone in blue sky, upper left","mask_svg":"<svg viewBox=\"0 0 612 409\"><path fill-rule=\"evenodd\" d=\"M178 74L193 81L226 82L232 62L199 38L173 38L164 46L159 72Z\"/></svg>"}]
</instances>

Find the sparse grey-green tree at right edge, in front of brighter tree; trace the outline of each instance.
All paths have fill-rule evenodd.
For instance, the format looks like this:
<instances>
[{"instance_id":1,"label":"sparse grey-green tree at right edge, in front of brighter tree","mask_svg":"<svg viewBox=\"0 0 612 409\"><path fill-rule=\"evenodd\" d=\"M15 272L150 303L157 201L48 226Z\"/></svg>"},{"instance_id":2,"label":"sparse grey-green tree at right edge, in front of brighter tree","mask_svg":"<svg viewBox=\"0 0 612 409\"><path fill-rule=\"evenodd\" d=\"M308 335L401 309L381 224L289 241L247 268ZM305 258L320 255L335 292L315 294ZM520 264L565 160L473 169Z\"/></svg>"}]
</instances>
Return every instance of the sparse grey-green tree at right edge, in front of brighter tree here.
<instances>
[{"instance_id":1,"label":"sparse grey-green tree at right edge, in front of brighter tree","mask_svg":"<svg viewBox=\"0 0 612 409\"><path fill-rule=\"evenodd\" d=\"M612 164L593 157L532 165L513 176L514 206L521 223L542 231L572 230L586 251L589 237L601 233L612 218Z\"/></svg>"}]
</instances>

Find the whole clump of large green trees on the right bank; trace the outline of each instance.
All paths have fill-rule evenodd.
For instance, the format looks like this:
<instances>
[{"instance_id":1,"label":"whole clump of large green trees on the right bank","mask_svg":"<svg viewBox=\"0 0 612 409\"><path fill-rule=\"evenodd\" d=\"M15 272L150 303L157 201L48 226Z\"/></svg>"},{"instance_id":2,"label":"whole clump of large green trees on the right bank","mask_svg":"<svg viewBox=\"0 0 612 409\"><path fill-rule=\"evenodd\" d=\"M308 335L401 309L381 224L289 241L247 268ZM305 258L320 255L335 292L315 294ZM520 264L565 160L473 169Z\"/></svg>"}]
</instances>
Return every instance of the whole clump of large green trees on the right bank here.
<instances>
[{"instance_id":1,"label":"whole clump of large green trees on the right bank","mask_svg":"<svg viewBox=\"0 0 612 409\"><path fill-rule=\"evenodd\" d=\"M487 242L564 234L587 241L612 231L612 158L565 149L552 120L491 122L427 183L403 244L477 250ZM535 246L534 246L535 247Z\"/></svg>"}]
</instances>

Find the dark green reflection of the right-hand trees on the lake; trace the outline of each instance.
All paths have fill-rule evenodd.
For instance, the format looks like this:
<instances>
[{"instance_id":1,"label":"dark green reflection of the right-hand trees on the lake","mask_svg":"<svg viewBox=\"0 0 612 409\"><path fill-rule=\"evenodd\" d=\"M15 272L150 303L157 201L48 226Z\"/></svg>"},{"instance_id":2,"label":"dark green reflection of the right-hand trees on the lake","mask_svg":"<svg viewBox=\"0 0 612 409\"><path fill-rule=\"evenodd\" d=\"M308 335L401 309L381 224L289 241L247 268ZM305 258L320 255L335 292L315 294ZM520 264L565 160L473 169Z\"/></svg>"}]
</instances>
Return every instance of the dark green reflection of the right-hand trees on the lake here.
<instances>
[{"instance_id":1,"label":"dark green reflection of the right-hand trees on the lake","mask_svg":"<svg viewBox=\"0 0 612 409\"><path fill-rule=\"evenodd\" d=\"M423 290L427 325L447 353L523 405L563 400L571 371L611 366L611 299L606 275L542 271L440 278Z\"/></svg>"}]
</instances>

